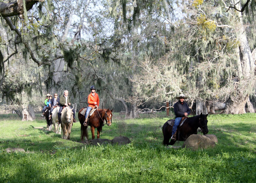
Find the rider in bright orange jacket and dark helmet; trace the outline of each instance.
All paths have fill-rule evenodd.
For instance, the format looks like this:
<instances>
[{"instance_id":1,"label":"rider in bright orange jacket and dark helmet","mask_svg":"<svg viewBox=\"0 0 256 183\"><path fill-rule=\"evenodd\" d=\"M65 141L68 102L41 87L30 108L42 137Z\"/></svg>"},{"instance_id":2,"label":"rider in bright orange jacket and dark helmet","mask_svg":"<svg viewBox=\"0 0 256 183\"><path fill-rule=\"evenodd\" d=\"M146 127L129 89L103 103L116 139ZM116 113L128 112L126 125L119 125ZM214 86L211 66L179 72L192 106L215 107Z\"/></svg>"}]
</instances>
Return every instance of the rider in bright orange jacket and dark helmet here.
<instances>
[{"instance_id":1,"label":"rider in bright orange jacket and dark helmet","mask_svg":"<svg viewBox=\"0 0 256 183\"><path fill-rule=\"evenodd\" d=\"M88 115L92 108L98 108L99 106L99 95L95 93L94 85L91 86L91 93L88 95L88 107L85 113L84 126L87 126Z\"/></svg>"}]
</instances>

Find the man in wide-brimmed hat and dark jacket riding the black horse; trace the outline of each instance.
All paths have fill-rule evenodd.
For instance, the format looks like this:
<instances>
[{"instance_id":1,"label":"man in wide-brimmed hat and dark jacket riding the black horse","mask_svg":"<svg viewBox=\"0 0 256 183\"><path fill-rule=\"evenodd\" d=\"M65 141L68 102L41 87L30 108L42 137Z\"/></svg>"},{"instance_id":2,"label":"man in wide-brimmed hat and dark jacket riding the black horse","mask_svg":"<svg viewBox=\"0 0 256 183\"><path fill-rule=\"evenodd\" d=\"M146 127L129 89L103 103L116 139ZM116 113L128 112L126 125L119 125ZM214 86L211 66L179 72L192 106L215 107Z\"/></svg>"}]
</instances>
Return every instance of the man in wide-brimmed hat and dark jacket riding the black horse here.
<instances>
[{"instance_id":1,"label":"man in wide-brimmed hat and dark jacket riding the black horse","mask_svg":"<svg viewBox=\"0 0 256 183\"><path fill-rule=\"evenodd\" d=\"M175 113L175 122L172 128L171 140L176 140L177 127L179 126L179 123L182 117L190 114L189 106L187 105L186 102L184 102L184 99L186 98L187 97L184 94L180 94L179 96L176 97L176 99L179 99L179 101L173 105L174 113Z\"/></svg>"}]
</instances>

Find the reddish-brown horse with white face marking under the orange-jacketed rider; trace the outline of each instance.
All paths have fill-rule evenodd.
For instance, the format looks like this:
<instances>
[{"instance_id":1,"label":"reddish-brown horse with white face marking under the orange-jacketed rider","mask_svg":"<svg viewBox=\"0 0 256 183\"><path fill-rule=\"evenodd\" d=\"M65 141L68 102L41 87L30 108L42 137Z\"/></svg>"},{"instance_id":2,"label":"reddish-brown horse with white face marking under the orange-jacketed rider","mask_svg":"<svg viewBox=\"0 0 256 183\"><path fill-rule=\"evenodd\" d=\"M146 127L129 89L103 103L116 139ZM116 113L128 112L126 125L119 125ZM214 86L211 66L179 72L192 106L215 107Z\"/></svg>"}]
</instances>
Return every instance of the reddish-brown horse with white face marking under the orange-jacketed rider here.
<instances>
[{"instance_id":1,"label":"reddish-brown horse with white face marking under the orange-jacketed rider","mask_svg":"<svg viewBox=\"0 0 256 183\"><path fill-rule=\"evenodd\" d=\"M97 138L99 138L99 134L102 131L102 126L104 125L104 120L108 126L111 126L112 123L112 110L109 109L98 109L94 111L94 113L88 119L88 125L84 126L85 116L81 114L81 111L84 108L80 109L78 112L78 119L81 124L81 141L83 141L85 137L85 142L88 140L88 131L87 127L91 126L92 139L95 138L94 130L97 129Z\"/></svg>"}]
</instances>

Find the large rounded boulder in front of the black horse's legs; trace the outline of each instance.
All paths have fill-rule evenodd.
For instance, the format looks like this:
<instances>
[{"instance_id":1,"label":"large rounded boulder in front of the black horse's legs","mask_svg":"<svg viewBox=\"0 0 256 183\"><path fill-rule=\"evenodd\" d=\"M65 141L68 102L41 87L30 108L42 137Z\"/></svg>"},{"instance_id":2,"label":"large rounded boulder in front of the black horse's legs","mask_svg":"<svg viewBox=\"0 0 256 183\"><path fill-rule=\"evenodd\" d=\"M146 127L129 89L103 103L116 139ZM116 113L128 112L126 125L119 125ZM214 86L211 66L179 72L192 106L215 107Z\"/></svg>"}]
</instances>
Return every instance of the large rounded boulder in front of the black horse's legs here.
<instances>
[{"instance_id":1,"label":"large rounded boulder in front of the black horse's legs","mask_svg":"<svg viewBox=\"0 0 256 183\"><path fill-rule=\"evenodd\" d=\"M187 138L182 147L197 150L198 148L213 148L215 145L215 141L211 140L209 137L193 134Z\"/></svg>"}]
</instances>

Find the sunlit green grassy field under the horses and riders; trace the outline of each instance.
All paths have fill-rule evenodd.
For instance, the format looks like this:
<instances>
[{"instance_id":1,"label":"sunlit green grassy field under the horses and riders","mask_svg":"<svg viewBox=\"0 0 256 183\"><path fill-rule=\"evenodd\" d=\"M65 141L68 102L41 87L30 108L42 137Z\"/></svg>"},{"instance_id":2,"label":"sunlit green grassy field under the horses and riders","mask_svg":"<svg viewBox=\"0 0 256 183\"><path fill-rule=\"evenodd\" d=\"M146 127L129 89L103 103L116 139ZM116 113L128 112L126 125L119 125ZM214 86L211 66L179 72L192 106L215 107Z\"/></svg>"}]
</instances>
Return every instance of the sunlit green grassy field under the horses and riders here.
<instances>
[{"instance_id":1,"label":"sunlit green grassy field under the horses and riders","mask_svg":"<svg viewBox=\"0 0 256 183\"><path fill-rule=\"evenodd\" d=\"M126 136L131 143L91 146L80 142L79 122L70 140L63 140L37 129L46 126L39 115L34 122L0 115L0 183L256 182L256 114L208 116L208 134L215 134L218 144L197 151L161 144L161 126L168 119L162 113L124 120L114 113L101 138ZM15 147L26 153L4 151Z\"/></svg>"}]
</instances>

